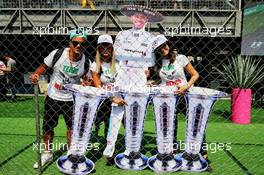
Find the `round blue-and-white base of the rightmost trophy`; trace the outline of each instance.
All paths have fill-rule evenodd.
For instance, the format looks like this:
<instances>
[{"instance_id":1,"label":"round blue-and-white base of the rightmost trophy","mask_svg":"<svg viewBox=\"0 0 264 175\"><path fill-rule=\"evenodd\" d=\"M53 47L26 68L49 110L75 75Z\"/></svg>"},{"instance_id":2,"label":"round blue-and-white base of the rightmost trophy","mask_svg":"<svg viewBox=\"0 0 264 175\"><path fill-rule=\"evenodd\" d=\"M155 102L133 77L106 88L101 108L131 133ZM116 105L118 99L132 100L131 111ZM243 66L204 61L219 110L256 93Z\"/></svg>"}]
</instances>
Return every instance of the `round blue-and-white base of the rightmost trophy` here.
<instances>
[{"instance_id":1,"label":"round blue-and-white base of the rightmost trophy","mask_svg":"<svg viewBox=\"0 0 264 175\"><path fill-rule=\"evenodd\" d=\"M203 172L208 168L208 162L199 154L184 152L180 154L182 159L182 171Z\"/></svg>"}]
</instances>

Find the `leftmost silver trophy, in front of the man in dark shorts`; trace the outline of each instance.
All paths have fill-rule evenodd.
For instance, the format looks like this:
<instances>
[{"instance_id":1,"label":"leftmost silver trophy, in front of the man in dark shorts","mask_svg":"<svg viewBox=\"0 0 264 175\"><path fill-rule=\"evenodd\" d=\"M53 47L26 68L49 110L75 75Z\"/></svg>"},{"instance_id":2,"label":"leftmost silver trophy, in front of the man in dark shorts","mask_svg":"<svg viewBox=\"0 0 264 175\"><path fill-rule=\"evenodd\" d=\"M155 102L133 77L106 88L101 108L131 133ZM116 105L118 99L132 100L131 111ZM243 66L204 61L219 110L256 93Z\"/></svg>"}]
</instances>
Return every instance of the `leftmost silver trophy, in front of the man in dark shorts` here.
<instances>
[{"instance_id":1,"label":"leftmost silver trophy, in front of the man in dark shorts","mask_svg":"<svg viewBox=\"0 0 264 175\"><path fill-rule=\"evenodd\" d=\"M105 90L90 86L64 85L72 92L74 118L70 150L57 160L57 167L65 174L85 175L93 171L94 163L85 157L86 144L90 140L92 124L100 98Z\"/></svg>"}]
</instances>

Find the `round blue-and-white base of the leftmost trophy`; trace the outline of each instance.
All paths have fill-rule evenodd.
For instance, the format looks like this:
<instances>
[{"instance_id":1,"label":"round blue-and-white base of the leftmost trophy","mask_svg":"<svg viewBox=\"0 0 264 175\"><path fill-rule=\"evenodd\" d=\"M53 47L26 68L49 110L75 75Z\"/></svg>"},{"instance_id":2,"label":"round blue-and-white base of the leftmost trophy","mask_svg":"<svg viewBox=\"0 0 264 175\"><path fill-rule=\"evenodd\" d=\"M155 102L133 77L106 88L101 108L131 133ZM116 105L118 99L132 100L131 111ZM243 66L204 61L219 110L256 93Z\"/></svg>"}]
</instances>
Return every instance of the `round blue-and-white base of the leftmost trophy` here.
<instances>
[{"instance_id":1,"label":"round blue-and-white base of the leftmost trophy","mask_svg":"<svg viewBox=\"0 0 264 175\"><path fill-rule=\"evenodd\" d=\"M85 156L62 156L57 160L57 167L65 174L86 175L94 169L94 163Z\"/></svg>"}]
</instances>

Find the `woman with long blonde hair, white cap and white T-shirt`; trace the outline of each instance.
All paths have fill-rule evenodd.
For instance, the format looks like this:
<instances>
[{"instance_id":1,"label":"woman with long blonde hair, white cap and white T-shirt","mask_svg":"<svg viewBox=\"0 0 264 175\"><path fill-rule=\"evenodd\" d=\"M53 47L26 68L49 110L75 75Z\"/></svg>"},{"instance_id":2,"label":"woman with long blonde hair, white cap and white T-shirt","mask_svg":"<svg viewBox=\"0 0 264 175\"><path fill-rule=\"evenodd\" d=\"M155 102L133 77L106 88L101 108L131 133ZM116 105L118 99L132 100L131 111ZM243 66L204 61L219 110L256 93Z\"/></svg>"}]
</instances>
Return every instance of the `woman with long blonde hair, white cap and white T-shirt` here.
<instances>
[{"instance_id":1,"label":"woman with long blonde hair, white cap and white T-shirt","mask_svg":"<svg viewBox=\"0 0 264 175\"><path fill-rule=\"evenodd\" d=\"M95 87L110 88L113 86L117 75L116 66L112 37L110 35L99 36L95 62L90 67ZM96 135L98 135L100 130L101 122L104 122L104 133L106 137L111 114L111 104L112 101L110 98L102 99L100 102L95 118Z\"/></svg>"}]
</instances>

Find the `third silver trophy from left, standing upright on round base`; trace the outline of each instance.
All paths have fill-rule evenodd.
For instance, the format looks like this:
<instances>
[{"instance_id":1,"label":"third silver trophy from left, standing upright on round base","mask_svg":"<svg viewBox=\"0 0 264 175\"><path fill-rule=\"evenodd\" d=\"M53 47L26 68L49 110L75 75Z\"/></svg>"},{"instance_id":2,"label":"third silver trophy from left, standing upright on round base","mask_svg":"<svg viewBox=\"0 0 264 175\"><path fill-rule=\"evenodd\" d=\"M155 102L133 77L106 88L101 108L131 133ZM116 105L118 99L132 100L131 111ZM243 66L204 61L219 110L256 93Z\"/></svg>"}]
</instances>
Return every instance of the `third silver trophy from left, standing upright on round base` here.
<instances>
[{"instance_id":1,"label":"third silver trophy from left, standing upright on round base","mask_svg":"<svg viewBox=\"0 0 264 175\"><path fill-rule=\"evenodd\" d=\"M149 158L148 166L157 173L178 171L182 164L181 157L173 154L176 90L175 86L158 87L159 93L153 96L158 154Z\"/></svg>"}]
</instances>

